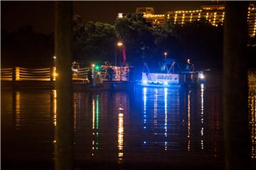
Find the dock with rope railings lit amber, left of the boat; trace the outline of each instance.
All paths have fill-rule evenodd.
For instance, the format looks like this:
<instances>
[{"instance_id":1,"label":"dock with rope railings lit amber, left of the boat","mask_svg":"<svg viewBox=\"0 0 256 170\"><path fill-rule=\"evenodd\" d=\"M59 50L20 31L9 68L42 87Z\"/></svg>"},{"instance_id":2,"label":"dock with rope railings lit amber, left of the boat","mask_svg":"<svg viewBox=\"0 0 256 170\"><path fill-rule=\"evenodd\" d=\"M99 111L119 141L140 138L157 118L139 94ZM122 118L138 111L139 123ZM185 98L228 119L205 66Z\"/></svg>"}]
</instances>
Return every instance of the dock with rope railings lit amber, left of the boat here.
<instances>
[{"instance_id":1,"label":"dock with rope railings lit amber, left of the boat","mask_svg":"<svg viewBox=\"0 0 256 170\"><path fill-rule=\"evenodd\" d=\"M112 81L107 79L107 72L102 70L100 77L102 83L90 84L87 79L89 67L73 70L73 90L104 91L104 90L126 90L132 89L137 81L129 81L128 74L116 75ZM55 67L53 68L1 68L1 90L12 89L55 89L55 81L58 79Z\"/></svg>"}]
</instances>

